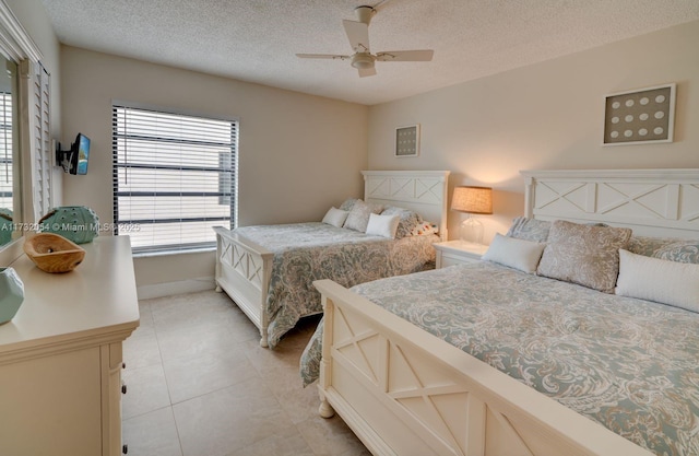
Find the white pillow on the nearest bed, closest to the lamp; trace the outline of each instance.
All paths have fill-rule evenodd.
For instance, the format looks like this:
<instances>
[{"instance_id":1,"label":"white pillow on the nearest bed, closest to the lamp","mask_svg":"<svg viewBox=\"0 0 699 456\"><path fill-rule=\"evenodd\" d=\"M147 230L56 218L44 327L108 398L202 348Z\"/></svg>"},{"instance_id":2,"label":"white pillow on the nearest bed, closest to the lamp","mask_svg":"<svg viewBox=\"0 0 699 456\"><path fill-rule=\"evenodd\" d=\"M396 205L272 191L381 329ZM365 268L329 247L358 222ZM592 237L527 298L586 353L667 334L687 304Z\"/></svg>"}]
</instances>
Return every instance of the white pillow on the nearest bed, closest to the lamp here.
<instances>
[{"instance_id":1,"label":"white pillow on the nearest bed, closest to the lamp","mask_svg":"<svg viewBox=\"0 0 699 456\"><path fill-rule=\"evenodd\" d=\"M496 233L490 246L481 259L498 262L522 272L534 273L542 259L544 247L546 244Z\"/></svg>"}]
</instances>

